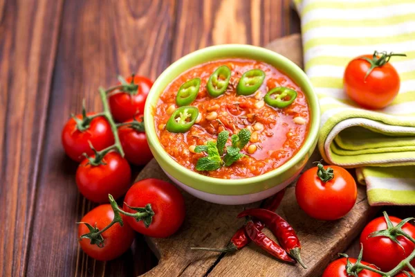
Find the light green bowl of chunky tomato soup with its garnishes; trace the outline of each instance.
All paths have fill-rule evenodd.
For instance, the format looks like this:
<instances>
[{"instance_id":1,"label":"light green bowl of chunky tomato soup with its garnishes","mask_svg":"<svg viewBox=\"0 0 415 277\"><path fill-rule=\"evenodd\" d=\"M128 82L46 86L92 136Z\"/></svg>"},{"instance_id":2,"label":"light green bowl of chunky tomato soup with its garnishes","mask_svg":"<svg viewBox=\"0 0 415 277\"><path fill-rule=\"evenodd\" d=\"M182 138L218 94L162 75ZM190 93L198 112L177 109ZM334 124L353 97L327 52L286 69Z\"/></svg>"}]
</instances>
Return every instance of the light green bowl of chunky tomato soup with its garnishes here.
<instances>
[{"instance_id":1,"label":"light green bowl of chunky tomato soup with its garnishes","mask_svg":"<svg viewBox=\"0 0 415 277\"><path fill-rule=\"evenodd\" d=\"M190 53L154 82L145 106L151 152L188 193L247 204L297 177L317 143L320 108L305 73L257 46Z\"/></svg>"}]
</instances>

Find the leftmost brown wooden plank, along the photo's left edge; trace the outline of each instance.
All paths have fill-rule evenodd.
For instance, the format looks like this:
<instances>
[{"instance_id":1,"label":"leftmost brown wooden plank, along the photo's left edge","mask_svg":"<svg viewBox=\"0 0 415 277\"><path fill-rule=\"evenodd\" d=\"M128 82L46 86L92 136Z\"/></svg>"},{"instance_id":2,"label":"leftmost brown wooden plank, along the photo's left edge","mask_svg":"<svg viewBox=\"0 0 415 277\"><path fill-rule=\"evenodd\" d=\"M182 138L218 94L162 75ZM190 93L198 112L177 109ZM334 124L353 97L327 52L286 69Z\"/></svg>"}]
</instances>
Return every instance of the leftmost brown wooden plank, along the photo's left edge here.
<instances>
[{"instance_id":1,"label":"leftmost brown wooden plank, along the photo's left edge","mask_svg":"<svg viewBox=\"0 0 415 277\"><path fill-rule=\"evenodd\" d=\"M26 274L61 15L60 0L0 1L1 276Z\"/></svg>"}]
</instances>

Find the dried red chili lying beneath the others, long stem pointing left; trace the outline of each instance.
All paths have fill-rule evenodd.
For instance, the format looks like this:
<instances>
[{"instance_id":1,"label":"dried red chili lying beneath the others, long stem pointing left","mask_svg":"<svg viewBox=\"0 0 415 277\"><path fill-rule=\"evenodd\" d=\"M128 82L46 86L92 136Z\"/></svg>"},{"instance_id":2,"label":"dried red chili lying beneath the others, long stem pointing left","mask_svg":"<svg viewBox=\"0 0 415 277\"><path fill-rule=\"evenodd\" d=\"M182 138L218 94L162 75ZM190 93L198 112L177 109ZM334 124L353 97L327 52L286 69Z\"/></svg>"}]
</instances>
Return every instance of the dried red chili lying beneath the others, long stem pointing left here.
<instances>
[{"instance_id":1,"label":"dried red chili lying beneath the others, long stem pointing left","mask_svg":"<svg viewBox=\"0 0 415 277\"><path fill-rule=\"evenodd\" d=\"M285 188L283 190L280 190L276 195L273 197L270 197L268 201L266 201L266 204L264 205L264 208L275 211L277 210L279 204L281 204L282 198L285 194ZM265 227L265 224L262 222L259 222L258 220L253 220L255 222L255 226L257 226L257 229L262 230ZM245 226L242 226L238 229L236 233L232 236L230 239L228 245L225 248L208 248L208 247L192 247L192 250L205 250L205 251L214 251L214 252L234 252L242 247L245 247L246 244L250 242L250 238L248 238L248 235L246 235L245 232Z\"/></svg>"}]
</instances>

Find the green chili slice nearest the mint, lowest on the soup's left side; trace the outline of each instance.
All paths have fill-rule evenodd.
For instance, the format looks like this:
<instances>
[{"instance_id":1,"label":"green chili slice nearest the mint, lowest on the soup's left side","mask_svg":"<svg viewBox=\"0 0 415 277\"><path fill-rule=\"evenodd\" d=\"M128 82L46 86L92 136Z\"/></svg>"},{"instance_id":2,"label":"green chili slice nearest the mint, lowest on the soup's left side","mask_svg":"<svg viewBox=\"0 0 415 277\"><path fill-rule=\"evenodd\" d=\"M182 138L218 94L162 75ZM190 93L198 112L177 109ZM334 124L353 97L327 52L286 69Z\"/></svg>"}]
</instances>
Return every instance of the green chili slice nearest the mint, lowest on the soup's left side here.
<instances>
[{"instance_id":1,"label":"green chili slice nearest the mint, lowest on the soup's left side","mask_svg":"<svg viewBox=\"0 0 415 277\"><path fill-rule=\"evenodd\" d=\"M185 133L194 125L197 116L199 116L199 109L196 107L180 107L167 120L166 129L172 133Z\"/></svg>"}]
</instances>

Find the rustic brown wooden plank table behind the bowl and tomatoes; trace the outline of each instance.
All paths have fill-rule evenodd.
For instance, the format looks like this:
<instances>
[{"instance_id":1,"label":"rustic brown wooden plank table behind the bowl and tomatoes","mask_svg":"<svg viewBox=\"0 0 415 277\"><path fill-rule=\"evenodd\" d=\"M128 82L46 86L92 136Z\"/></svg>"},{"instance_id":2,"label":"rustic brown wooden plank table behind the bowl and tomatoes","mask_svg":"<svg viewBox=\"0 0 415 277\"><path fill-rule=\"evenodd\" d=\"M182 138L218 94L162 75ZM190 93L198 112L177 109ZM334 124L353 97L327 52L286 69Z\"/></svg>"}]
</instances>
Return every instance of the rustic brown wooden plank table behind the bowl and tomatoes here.
<instances>
[{"instance_id":1,"label":"rustic brown wooden plank table behind the bowl and tomatoes","mask_svg":"<svg viewBox=\"0 0 415 277\"><path fill-rule=\"evenodd\" d=\"M118 74L155 79L198 48L264 46L291 33L299 19L290 0L0 0L1 275L137 276L153 267L140 235L111 262L80 250L75 222L94 205L77 192L62 126L82 98L99 110L97 88Z\"/></svg>"}]
</instances>

